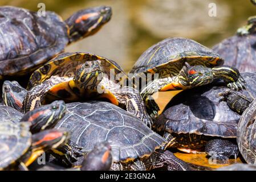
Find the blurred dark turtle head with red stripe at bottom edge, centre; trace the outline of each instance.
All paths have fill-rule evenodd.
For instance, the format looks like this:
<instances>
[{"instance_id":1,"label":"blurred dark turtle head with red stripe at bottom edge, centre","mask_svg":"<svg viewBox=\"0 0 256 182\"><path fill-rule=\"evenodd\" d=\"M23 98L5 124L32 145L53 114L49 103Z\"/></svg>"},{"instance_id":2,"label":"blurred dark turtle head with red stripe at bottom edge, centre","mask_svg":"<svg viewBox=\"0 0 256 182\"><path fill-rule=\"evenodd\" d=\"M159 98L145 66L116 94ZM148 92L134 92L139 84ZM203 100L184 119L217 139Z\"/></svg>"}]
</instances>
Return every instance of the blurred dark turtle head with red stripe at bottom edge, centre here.
<instances>
[{"instance_id":1,"label":"blurred dark turtle head with red stripe at bottom edge, centre","mask_svg":"<svg viewBox=\"0 0 256 182\"><path fill-rule=\"evenodd\" d=\"M112 165L111 146L108 142L95 144L94 149L84 158L82 171L107 171Z\"/></svg>"}]
</instances>

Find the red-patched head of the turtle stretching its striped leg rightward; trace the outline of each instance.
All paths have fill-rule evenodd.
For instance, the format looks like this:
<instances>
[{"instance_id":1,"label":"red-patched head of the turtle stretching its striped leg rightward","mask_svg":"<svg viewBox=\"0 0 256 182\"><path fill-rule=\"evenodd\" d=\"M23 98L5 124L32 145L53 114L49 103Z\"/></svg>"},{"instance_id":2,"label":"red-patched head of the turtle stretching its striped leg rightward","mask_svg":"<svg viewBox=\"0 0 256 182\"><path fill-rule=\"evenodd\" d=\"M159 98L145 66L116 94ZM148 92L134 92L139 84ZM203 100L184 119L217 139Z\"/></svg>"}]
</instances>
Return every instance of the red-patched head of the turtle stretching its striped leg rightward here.
<instances>
[{"instance_id":1,"label":"red-patched head of the turtle stretching its striped leg rightward","mask_svg":"<svg viewBox=\"0 0 256 182\"><path fill-rule=\"evenodd\" d=\"M186 63L186 67L186 73L190 86L194 87L206 85L213 81L214 75L211 68L205 67L203 65L196 65L191 67L188 63Z\"/></svg>"}]
</instances>

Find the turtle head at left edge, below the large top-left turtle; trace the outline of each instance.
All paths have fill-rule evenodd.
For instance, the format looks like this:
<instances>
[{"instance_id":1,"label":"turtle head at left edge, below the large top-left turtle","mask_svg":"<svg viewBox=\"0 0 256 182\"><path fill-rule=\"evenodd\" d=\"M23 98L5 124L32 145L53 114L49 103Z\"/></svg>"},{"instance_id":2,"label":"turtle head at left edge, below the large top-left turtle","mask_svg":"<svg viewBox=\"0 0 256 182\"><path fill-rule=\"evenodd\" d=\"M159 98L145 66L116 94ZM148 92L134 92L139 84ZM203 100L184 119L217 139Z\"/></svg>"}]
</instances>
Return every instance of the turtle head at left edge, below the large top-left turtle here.
<instances>
[{"instance_id":1,"label":"turtle head at left edge, below the large top-left turtle","mask_svg":"<svg viewBox=\"0 0 256 182\"><path fill-rule=\"evenodd\" d=\"M2 98L6 106L13 107L14 109L21 111L22 102L27 94L27 90L22 88L17 81L3 82Z\"/></svg>"}]
</instances>

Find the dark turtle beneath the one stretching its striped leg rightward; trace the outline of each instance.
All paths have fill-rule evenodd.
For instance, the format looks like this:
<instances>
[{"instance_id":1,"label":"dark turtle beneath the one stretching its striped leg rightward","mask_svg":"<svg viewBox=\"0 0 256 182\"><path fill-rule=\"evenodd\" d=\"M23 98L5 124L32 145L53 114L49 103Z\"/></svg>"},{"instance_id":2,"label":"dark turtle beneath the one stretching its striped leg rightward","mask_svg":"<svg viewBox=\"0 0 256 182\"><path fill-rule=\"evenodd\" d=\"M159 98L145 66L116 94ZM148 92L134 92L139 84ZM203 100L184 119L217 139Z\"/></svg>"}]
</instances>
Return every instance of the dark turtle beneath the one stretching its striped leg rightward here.
<instances>
[{"instance_id":1,"label":"dark turtle beneath the one stretching its striped leg rightward","mask_svg":"<svg viewBox=\"0 0 256 182\"><path fill-rule=\"evenodd\" d=\"M247 88L242 93L256 95L256 75L242 73ZM184 90L174 96L162 114L156 118L154 127L164 133L169 147L184 152L206 152L218 160L238 155L236 143L237 125L241 115L230 109L224 98L225 82Z\"/></svg>"}]
</instances>

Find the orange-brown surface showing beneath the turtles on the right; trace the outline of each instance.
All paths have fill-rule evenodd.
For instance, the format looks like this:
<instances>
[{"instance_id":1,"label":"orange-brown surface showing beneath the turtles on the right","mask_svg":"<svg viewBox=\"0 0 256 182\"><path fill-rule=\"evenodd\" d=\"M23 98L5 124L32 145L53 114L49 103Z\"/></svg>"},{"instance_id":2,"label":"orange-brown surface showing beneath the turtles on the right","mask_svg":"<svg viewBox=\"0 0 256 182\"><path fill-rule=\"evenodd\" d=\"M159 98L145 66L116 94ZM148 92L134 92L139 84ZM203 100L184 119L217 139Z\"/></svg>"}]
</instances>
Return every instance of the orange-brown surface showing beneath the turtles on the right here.
<instances>
[{"instance_id":1,"label":"orange-brown surface showing beneath the turtles on the right","mask_svg":"<svg viewBox=\"0 0 256 182\"><path fill-rule=\"evenodd\" d=\"M157 104L160 107L159 113L161 113L166 104L168 104L168 102L179 92L181 91L159 92L158 95L153 95L153 97L156 99ZM210 164L211 162L209 163L209 159L206 158L206 154L186 154L184 152L174 152L174 155L177 156L177 158L184 160L185 162L211 168L224 167L230 164L234 164L235 162L242 163L240 158L237 158L236 161L235 159L230 159L226 162L216 160L217 164Z\"/></svg>"}]
</instances>

